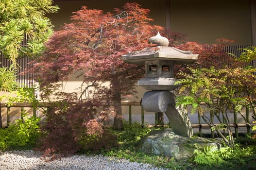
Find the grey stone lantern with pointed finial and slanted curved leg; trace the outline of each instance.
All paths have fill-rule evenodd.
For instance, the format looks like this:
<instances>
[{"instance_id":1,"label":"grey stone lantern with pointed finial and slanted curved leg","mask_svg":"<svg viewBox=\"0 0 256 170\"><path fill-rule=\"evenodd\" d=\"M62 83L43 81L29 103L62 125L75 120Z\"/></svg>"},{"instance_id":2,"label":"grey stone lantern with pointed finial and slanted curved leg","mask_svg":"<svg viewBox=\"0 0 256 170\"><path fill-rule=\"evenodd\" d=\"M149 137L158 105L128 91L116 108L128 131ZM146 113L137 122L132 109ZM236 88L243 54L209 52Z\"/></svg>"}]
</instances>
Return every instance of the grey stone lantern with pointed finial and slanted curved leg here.
<instances>
[{"instance_id":1,"label":"grey stone lantern with pointed finial and slanted curved leg","mask_svg":"<svg viewBox=\"0 0 256 170\"><path fill-rule=\"evenodd\" d=\"M189 64L197 60L198 54L168 47L169 41L159 33L149 39L156 47L129 52L122 59L129 64L145 65L146 77L138 85L147 91L142 97L142 106L148 112L163 112L167 115L173 132L179 136L192 136L191 123L186 110L176 108L174 65Z\"/></svg>"}]
</instances>

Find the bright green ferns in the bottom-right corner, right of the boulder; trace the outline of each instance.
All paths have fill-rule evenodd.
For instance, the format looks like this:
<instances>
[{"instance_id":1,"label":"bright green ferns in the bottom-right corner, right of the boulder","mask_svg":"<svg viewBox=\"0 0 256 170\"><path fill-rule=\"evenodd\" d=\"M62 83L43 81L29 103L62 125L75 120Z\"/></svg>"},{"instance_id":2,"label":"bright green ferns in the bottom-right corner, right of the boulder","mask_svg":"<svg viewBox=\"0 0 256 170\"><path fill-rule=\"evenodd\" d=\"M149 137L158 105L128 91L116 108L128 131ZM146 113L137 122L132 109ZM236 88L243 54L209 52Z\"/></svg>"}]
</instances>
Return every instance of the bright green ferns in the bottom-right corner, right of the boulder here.
<instances>
[{"instance_id":1,"label":"bright green ferns in the bottom-right corner, right of the boulder","mask_svg":"<svg viewBox=\"0 0 256 170\"><path fill-rule=\"evenodd\" d=\"M246 170L255 169L256 146L244 147L236 144L236 150L231 147L212 149L211 147L199 148L195 151L193 162L198 170ZM253 161L253 162L252 162Z\"/></svg>"}]
</instances>

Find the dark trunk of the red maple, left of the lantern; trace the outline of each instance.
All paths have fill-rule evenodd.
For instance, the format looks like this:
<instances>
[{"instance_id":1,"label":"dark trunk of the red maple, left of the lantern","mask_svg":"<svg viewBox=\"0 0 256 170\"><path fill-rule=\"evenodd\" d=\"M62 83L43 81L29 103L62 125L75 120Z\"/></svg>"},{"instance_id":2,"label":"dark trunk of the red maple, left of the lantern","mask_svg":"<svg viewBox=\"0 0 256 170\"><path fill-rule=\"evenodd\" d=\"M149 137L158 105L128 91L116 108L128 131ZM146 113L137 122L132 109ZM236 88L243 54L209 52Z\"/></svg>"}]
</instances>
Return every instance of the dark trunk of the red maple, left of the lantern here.
<instances>
[{"instance_id":1,"label":"dark trunk of the red maple, left of the lantern","mask_svg":"<svg viewBox=\"0 0 256 170\"><path fill-rule=\"evenodd\" d=\"M123 122L122 122L122 108L121 108L121 89L119 86L118 80L113 80L115 89L113 90L113 107L114 107L114 124L113 129L123 129Z\"/></svg>"}]
</instances>

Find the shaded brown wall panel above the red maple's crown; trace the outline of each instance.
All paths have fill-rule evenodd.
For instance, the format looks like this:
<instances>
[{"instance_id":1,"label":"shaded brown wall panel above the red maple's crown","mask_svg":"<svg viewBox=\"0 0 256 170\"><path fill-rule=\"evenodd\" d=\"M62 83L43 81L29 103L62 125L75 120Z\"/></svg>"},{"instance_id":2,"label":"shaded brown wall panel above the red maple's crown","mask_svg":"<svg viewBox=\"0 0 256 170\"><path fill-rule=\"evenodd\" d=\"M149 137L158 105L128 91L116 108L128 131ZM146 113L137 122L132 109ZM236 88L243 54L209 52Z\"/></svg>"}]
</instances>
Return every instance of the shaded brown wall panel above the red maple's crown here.
<instances>
[{"instance_id":1,"label":"shaded brown wall panel above the red maple's crown","mask_svg":"<svg viewBox=\"0 0 256 170\"><path fill-rule=\"evenodd\" d=\"M125 2L137 2L142 8L150 9L150 17L154 19L152 24L165 26L165 0L80 0L80 1L64 1L54 2L60 10L56 14L48 15L55 30L58 30L64 23L70 22L72 12L78 11L82 6L88 9L100 9L104 12L113 12L114 8L122 8Z\"/></svg>"}]
</instances>

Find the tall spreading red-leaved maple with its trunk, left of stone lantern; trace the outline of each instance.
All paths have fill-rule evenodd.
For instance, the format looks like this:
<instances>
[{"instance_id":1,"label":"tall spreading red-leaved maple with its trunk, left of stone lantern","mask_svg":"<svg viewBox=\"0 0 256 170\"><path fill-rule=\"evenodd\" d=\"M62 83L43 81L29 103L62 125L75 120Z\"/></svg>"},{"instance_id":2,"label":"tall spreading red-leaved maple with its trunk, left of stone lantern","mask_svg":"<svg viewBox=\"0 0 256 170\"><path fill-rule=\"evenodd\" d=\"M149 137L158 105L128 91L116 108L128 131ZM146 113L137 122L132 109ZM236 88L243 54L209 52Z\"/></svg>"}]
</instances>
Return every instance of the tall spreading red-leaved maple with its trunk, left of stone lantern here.
<instances>
[{"instance_id":1,"label":"tall spreading red-leaved maple with its trunk, left of stone lantern","mask_svg":"<svg viewBox=\"0 0 256 170\"><path fill-rule=\"evenodd\" d=\"M113 105L114 129L122 129L121 99L136 93L144 69L124 63L121 55L149 47L149 37L164 32L163 27L150 24L153 19L148 17L149 12L137 3L125 3L114 13L104 14L86 6L74 12L72 23L55 32L47 43L48 50L34 63L33 71L41 87L68 80L82 70L83 85L88 85L84 89L94 87L105 96L102 102ZM95 97L94 92L91 90L90 96Z\"/></svg>"}]
</instances>

